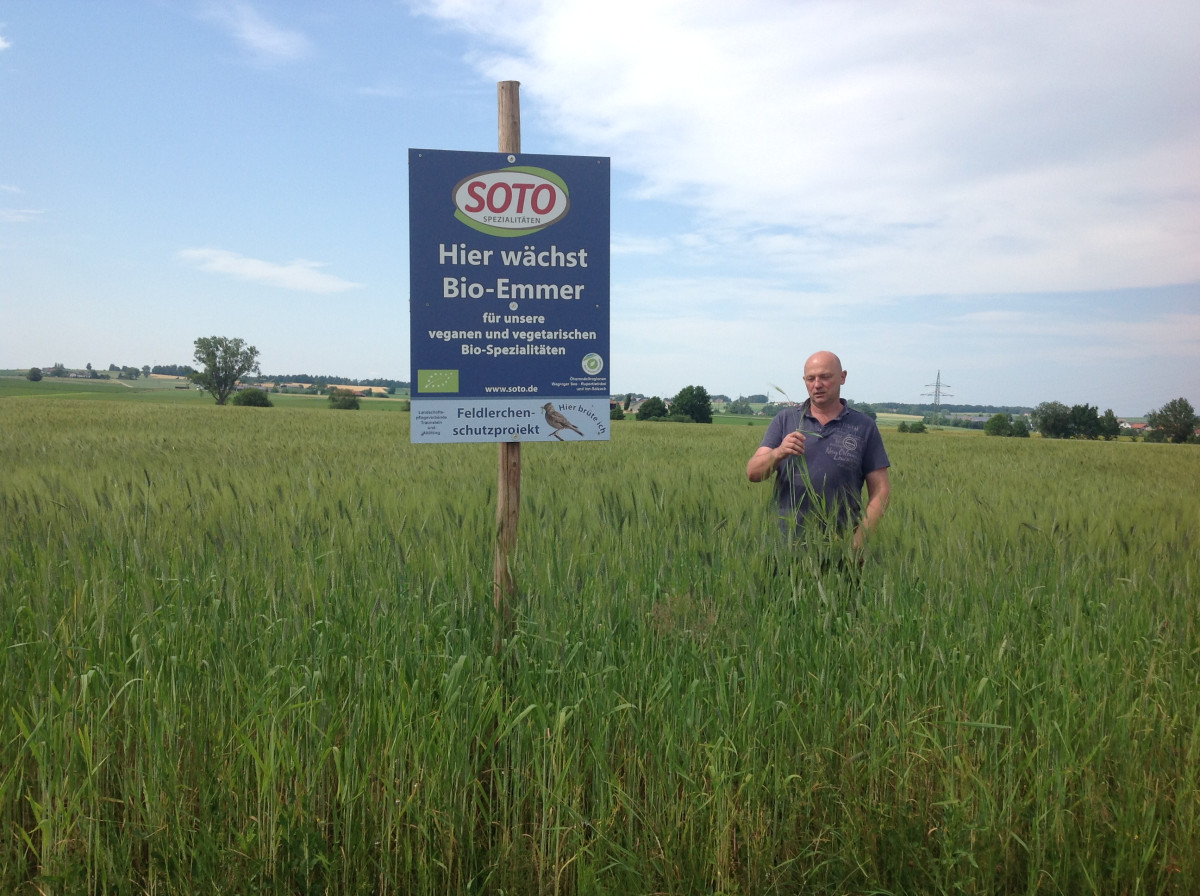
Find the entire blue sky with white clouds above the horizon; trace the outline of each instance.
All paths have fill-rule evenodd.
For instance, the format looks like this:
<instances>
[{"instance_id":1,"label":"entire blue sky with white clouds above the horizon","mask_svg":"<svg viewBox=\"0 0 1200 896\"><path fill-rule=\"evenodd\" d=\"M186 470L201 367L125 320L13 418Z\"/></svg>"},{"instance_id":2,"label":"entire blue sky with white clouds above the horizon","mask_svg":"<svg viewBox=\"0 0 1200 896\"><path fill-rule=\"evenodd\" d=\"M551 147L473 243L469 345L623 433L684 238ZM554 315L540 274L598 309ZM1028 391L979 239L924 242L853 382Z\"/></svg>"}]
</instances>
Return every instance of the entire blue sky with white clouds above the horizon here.
<instances>
[{"instance_id":1,"label":"entire blue sky with white clouds above the horizon","mask_svg":"<svg viewBox=\"0 0 1200 896\"><path fill-rule=\"evenodd\" d=\"M0 368L408 379L408 148L612 160L612 387L1200 405L1195 0L0 0Z\"/></svg>"}]
</instances>

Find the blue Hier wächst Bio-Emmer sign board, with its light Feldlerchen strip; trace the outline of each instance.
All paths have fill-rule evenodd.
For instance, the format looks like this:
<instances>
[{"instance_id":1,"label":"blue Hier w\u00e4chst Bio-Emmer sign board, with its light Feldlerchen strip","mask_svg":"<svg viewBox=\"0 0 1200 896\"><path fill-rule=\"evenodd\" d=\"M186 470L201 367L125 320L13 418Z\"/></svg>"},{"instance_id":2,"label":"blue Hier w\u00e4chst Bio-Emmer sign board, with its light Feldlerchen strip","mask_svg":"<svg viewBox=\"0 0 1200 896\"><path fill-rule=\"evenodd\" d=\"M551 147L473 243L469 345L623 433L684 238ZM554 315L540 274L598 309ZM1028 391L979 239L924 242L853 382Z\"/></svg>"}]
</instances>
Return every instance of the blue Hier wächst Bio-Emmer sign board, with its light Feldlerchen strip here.
<instances>
[{"instance_id":1,"label":"blue Hier w\u00e4chst Bio-Emmer sign board, with its light Feldlerchen strip","mask_svg":"<svg viewBox=\"0 0 1200 896\"><path fill-rule=\"evenodd\" d=\"M412 441L608 438L608 169L408 151Z\"/></svg>"}]
</instances>

